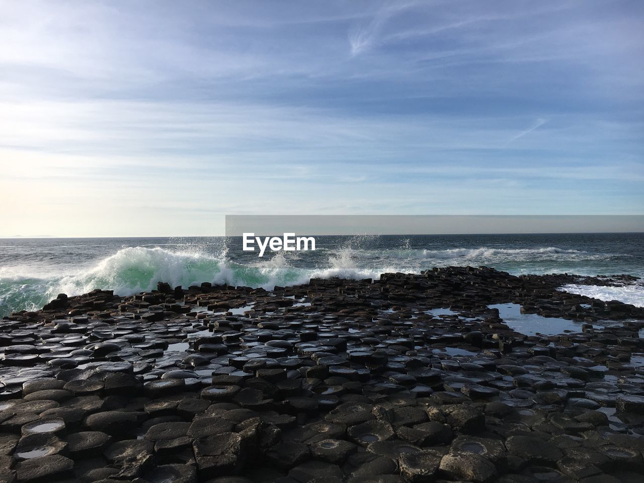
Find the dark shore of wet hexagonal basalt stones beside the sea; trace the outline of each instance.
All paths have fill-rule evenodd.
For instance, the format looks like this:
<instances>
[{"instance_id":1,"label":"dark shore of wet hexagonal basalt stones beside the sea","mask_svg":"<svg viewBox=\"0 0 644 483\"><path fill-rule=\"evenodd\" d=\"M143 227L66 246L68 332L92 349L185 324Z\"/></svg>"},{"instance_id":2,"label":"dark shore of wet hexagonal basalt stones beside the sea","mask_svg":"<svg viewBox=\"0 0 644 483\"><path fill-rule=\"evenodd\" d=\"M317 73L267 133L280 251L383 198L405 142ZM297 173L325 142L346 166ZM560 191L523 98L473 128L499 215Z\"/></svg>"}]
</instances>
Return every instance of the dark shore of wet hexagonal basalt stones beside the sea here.
<instances>
[{"instance_id":1,"label":"dark shore of wet hexagonal basalt stones beside the sea","mask_svg":"<svg viewBox=\"0 0 644 483\"><path fill-rule=\"evenodd\" d=\"M61 294L0 322L0 482L641 483L644 309L557 290L630 281Z\"/></svg>"}]
</instances>

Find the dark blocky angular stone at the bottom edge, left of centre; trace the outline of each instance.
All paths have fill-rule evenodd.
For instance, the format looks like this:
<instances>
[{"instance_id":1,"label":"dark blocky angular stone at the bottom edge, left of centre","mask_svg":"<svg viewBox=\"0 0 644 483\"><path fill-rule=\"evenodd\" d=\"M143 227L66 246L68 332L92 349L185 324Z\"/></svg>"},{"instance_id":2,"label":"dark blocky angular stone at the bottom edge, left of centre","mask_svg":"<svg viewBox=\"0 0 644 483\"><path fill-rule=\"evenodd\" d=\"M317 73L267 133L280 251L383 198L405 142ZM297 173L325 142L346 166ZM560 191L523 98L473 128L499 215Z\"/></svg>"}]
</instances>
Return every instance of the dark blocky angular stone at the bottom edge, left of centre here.
<instances>
[{"instance_id":1,"label":"dark blocky angular stone at the bottom edge, left of centre","mask_svg":"<svg viewBox=\"0 0 644 483\"><path fill-rule=\"evenodd\" d=\"M197 439L193 449L199 477L202 479L240 471L242 438L236 433L222 433Z\"/></svg>"}]
</instances>

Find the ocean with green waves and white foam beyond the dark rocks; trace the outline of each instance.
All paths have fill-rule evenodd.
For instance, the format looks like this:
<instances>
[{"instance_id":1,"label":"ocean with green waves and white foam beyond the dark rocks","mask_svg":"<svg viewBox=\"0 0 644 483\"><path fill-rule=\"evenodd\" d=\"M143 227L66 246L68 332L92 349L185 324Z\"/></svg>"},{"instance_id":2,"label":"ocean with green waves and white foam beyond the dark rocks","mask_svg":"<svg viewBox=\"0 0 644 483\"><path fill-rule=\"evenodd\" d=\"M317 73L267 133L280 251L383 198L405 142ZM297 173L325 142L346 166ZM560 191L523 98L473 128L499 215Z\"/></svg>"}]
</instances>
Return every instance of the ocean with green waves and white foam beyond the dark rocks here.
<instances>
[{"instance_id":1,"label":"ocean with green waves and white foam beyond the dark rocks","mask_svg":"<svg viewBox=\"0 0 644 483\"><path fill-rule=\"evenodd\" d=\"M272 289L312 277L378 278L450 265L513 274L644 276L644 233L316 236L316 251L243 252L241 238L0 239L0 316L34 310L59 293L128 295L204 281ZM562 287L644 305L644 284Z\"/></svg>"}]
</instances>

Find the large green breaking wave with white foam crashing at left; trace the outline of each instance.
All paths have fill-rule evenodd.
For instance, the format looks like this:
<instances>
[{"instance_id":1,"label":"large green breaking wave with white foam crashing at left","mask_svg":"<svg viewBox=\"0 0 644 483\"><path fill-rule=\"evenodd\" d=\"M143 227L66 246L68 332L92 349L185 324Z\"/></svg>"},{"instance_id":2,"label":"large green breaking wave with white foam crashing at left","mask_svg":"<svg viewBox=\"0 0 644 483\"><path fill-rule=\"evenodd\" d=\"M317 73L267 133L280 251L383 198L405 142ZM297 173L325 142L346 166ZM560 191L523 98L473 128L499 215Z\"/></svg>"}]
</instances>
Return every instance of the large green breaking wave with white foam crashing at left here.
<instances>
[{"instance_id":1,"label":"large green breaking wave with white foam crashing at left","mask_svg":"<svg viewBox=\"0 0 644 483\"><path fill-rule=\"evenodd\" d=\"M328 257L328 266L305 269L290 265L279 253L269 260L249 264L202 252L175 252L160 247L128 247L75 274L38 278L19 270L0 272L0 312L36 310L57 294L79 295L93 289L114 290L121 296L156 289L158 281L189 287L204 281L272 289L298 285L310 278L377 278L381 271L361 269L350 254ZM393 270L393 267L390 267ZM1 314L0 314L1 315Z\"/></svg>"}]
</instances>

